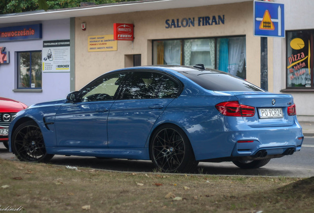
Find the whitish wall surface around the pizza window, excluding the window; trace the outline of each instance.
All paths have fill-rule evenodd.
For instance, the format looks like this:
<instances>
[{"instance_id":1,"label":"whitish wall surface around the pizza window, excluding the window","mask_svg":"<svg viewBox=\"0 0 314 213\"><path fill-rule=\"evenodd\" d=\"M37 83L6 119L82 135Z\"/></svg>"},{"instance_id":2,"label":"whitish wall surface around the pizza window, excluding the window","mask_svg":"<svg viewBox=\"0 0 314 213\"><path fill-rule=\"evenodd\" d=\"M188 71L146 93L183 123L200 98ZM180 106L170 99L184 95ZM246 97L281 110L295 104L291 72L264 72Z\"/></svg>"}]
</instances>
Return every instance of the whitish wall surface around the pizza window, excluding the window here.
<instances>
[{"instance_id":1,"label":"whitish wall surface around the pizza window, excluding the window","mask_svg":"<svg viewBox=\"0 0 314 213\"><path fill-rule=\"evenodd\" d=\"M284 4L285 30L314 29L314 1L313 0L274 0ZM286 38L274 38L274 92L286 88ZM313 68L312 68L313 71ZM299 121L314 122L314 91L291 92L297 107Z\"/></svg>"}]
</instances>

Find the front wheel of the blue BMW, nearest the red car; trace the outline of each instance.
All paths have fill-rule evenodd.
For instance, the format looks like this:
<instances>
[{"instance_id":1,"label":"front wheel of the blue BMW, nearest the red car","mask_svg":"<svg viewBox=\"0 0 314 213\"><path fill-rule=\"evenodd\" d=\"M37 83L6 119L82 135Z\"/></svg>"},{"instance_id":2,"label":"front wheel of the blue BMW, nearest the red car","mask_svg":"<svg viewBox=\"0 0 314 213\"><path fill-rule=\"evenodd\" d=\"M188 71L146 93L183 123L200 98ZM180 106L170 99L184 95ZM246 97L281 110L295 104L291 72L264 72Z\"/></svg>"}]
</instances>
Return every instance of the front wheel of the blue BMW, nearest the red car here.
<instances>
[{"instance_id":1,"label":"front wheel of the blue BMW, nearest the red car","mask_svg":"<svg viewBox=\"0 0 314 213\"><path fill-rule=\"evenodd\" d=\"M20 161L47 163L54 156L47 154L41 130L35 121L22 123L16 128L11 147Z\"/></svg>"}]
</instances>

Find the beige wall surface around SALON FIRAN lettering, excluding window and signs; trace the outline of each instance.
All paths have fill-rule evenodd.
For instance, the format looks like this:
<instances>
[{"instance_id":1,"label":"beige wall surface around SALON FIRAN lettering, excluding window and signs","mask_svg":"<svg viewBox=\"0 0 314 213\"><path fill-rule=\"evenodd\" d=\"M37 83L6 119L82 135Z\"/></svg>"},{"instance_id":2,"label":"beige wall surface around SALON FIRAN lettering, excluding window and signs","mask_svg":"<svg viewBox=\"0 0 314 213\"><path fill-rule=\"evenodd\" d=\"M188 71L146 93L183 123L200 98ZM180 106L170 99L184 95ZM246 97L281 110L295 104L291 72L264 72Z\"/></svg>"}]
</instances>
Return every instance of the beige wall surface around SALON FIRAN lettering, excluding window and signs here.
<instances>
[{"instance_id":1,"label":"beige wall surface around SALON FIRAN lettering, excluding window and signs","mask_svg":"<svg viewBox=\"0 0 314 213\"><path fill-rule=\"evenodd\" d=\"M165 28L166 19L225 15L225 24ZM86 31L81 23L86 22ZM134 24L134 41L118 41L118 51L88 52L87 37L113 34L114 23ZM246 36L247 80L260 85L260 37L253 36L253 2L193 8L120 13L76 18L76 89L100 74L129 66L128 55L141 54L142 65L152 64L152 40L216 36ZM270 65L270 63L269 63ZM272 82L269 74L269 82Z\"/></svg>"}]
</instances>

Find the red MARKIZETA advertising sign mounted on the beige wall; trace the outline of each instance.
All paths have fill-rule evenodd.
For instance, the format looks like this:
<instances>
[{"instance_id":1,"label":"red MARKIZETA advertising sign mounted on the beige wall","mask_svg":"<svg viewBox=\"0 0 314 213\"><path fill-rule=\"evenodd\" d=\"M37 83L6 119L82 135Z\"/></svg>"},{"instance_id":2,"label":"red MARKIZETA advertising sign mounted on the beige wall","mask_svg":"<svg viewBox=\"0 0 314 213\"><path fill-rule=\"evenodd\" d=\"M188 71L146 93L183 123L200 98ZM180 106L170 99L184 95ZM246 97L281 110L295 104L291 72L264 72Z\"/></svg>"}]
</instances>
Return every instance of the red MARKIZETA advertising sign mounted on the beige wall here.
<instances>
[{"instance_id":1,"label":"red MARKIZETA advertising sign mounted on the beige wall","mask_svg":"<svg viewBox=\"0 0 314 213\"><path fill-rule=\"evenodd\" d=\"M134 25L114 23L114 39L134 40Z\"/></svg>"}]
</instances>

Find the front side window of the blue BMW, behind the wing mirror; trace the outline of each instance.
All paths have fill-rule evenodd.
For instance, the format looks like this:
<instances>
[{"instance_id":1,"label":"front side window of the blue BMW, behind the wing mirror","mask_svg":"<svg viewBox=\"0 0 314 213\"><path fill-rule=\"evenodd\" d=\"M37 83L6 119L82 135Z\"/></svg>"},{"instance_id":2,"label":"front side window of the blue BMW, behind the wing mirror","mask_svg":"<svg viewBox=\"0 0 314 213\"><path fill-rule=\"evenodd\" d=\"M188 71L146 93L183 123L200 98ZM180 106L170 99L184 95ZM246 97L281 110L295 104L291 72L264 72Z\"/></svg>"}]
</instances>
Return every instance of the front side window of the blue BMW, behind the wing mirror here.
<instances>
[{"instance_id":1,"label":"front side window of the blue BMW, behind the wing mirror","mask_svg":"<svg viewBox=\"0 0 314 213\"><path fill-rule=\"evenodd\" d=\"M126 73L104 76L87 85L81 92L81 102L114 100Z\"/></svg>"}]
</instances>

